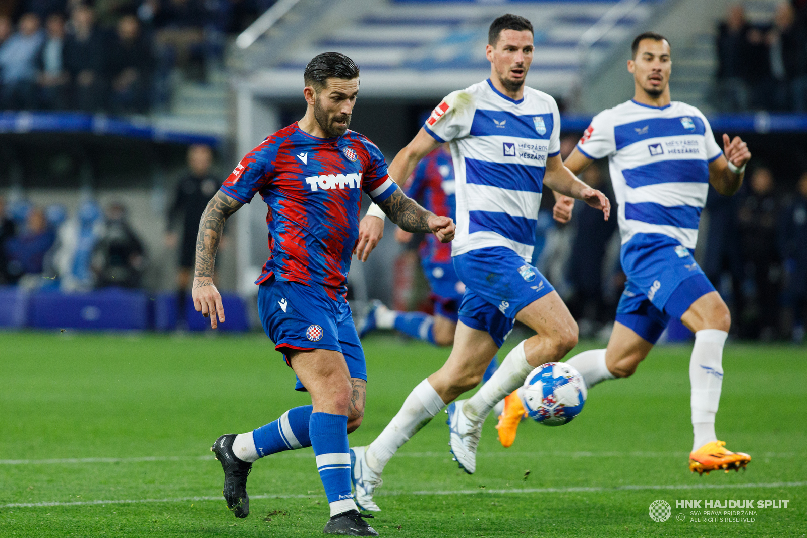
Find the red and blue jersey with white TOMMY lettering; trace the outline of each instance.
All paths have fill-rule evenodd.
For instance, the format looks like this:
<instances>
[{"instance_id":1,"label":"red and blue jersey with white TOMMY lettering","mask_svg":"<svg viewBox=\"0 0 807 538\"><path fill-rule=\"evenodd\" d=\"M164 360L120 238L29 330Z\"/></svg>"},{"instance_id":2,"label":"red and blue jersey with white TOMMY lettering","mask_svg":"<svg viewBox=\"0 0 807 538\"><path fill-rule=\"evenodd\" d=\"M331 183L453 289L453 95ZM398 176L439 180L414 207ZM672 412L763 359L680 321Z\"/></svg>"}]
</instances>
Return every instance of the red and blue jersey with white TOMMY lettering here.
<instances>
[{"instance_id":1,"label":"red and blue jersey with white TOMMY lettering","mask_svg":"<svg viewBox=\"0 0 807 538\"><path fill-rule=\"evenodd\" d=\"M382 202L397 188L366 137L353 131L312 137L295 122L247 153L221 190L243 204L260 193L269 206L270 257L255 284L274 275L321 285L344 302L362 191Z\"/></svg>"}]
</instances>

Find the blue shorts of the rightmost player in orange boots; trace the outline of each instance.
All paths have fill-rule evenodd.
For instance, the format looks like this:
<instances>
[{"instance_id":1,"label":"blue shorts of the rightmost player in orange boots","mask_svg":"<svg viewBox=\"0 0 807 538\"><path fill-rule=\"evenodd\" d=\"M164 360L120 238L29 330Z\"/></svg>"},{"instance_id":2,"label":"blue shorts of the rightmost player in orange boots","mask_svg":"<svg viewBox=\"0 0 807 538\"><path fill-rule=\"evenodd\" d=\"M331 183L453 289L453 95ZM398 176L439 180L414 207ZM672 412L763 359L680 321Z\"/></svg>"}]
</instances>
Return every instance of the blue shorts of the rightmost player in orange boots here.
<instances>
[{"instance_id":1,"label":"blue shorts of the rightmost player in orange boots","mask_svg":"<svg viewBox=\"0 0 807 538\"><path fill-rule=\"evenodd\" d=\"M616 321L650 343L659 340L671 317L680 319L692 303L715 291L692 250L673 237L637 234L622 246L621 262L628 282Z\"/></svg>"}]
</instances>

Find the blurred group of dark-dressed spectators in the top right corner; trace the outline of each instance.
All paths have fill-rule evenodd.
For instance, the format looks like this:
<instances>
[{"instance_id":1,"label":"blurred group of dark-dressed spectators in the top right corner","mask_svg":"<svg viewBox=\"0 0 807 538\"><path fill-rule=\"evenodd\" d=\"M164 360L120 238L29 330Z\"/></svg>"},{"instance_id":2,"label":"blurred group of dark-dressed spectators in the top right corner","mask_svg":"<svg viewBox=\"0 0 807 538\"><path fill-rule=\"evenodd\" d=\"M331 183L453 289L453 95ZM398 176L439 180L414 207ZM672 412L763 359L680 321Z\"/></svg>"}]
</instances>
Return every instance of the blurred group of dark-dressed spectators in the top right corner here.
<instances>
[{"instance_id":1,"label":"blurred group of dark-dressed spectators in the top right corner","mask_svg":"<svg viewBox=\"0 0 807 538\"><path fill-rule=\"evenodd\" d=\"M722 111L807 111L807 0L776 6L752 24L742 4L717 27L717 85Z\"/></svg>"}]
</instances>

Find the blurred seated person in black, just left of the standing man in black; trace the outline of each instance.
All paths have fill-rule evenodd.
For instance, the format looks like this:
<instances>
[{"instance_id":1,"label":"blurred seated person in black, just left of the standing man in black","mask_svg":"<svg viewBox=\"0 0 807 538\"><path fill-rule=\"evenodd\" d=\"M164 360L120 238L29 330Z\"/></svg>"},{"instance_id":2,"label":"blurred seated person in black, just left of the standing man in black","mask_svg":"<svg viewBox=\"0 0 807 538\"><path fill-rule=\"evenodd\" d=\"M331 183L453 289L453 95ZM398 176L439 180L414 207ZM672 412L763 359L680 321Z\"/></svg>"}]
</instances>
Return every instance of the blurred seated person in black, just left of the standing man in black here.
<instances>
[{"instance_id":1,"label":"blurred seated person in black, just left of the standing man in black","mask_svg":"<svg viewBox=\"0 0 807 538\"><path fill-rule=\"evenodd\" d=\"M145 266L143 243L128 223L126 208L111 204L104 233L93 252L96 287L139 288Z\"/></svg>"}]
</instances>

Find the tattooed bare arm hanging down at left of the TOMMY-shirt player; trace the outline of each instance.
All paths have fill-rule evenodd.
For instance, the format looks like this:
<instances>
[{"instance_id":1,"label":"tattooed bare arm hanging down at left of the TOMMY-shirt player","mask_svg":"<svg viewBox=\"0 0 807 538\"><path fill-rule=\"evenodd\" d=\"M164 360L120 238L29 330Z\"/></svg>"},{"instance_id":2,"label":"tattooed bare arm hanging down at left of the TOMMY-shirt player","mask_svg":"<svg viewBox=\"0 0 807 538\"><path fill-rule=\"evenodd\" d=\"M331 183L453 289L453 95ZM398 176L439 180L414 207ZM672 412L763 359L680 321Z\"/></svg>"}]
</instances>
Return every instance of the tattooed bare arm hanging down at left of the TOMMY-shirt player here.
<instances>
[{"instance_id":1,"label":"tattooed bare arm hanging down at left of the TOMMY-shirt player","mask_svg":"<svg viewBox=\"0 0 807 538\"><path fill-rule=\"evenodd\" d=\"M199 234L196 236L196 265L194 271L194 288L191 296L194 308L204 317L210 317L210 326L219 326L216 315L224 323L224 305L221 294L213 284L215 253L219 250L221 235L224 233L224 222L242 205L222 191L208 202L202 219L199 221Z\"/></svg>"}]
</instances>

